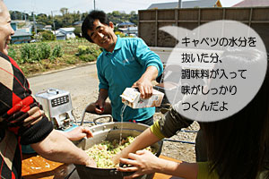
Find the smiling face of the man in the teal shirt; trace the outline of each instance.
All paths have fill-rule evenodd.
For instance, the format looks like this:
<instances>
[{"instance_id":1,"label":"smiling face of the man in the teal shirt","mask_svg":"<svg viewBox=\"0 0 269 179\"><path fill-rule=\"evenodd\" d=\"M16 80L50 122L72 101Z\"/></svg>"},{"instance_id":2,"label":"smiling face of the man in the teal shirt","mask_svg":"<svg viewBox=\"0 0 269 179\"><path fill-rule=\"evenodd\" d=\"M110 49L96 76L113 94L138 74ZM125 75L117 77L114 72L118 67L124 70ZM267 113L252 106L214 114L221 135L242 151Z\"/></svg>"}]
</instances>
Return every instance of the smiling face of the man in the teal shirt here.
<instances>
[{"instance_id":1,"label":"smiling face of the man in the teal shirt","mask_svg":"<svg viewBox=\"0 0 269 179\"><path fill-rule=\"evenodd\" d=\"M113 30L114 26L111 21L108 26L99 20L95 20L92 30L88 30L88 35L95 44L105 48L108 52L112 52L117 42L117 36Z\"/></svg>"}]
</instances>

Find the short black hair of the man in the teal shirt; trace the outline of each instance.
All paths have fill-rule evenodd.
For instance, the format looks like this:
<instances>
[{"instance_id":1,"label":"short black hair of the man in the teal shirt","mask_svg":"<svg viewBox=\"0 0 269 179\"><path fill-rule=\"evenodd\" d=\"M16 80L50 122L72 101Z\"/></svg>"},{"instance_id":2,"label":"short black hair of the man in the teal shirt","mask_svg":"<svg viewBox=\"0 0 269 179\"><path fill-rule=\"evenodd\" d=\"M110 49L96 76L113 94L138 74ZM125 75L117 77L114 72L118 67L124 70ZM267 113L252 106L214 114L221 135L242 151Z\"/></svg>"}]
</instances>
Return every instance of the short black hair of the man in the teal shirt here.
<instances>
[{"instance_id":1,"label":"short black hair of the man in the teal shirt","mask_svg":"<svg viewBox=\"0 0 269 179\"><path fill-rule=\"evenodd\" d=\"M104 13L103 11L97 11L97 10L91 11L82 23L82 36L86 38L88 41L90 41L91 43L93 41L91 37L88 35L87 31L93 29L93 22L95 20L99 20L101 23L109 26L109 20L106 13Z\"/></svg>"}]
</instances>

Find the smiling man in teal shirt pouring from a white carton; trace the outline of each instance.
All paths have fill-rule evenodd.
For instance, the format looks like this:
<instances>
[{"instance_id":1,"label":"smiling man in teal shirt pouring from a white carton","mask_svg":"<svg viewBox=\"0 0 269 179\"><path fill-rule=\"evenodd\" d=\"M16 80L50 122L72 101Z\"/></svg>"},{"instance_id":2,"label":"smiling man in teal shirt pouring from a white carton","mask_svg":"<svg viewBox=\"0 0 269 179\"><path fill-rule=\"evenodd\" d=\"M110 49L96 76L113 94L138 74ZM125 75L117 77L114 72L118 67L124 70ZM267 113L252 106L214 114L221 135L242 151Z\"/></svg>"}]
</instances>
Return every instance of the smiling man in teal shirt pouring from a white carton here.
<instances>
[{"instance_id":1,"label":"smiling man in teal shirt pouring from a white carton","mask_svg":"<svg viewBox=\"0 0 269 179\"><path fill-rule=\"evenodd\" d=\"M103 113L109 97L112 116L121 121L123 103L120 95L126 88L138 88L142 98L152 96L152 81L163 71L159 55L156 55L141 38L119 38L106 13L91 11L82 23L83 37L103 48L97 60L100 80L99 97L95 111ZM133 109L126 107L123 121L151 125L155 107Z\"/></svg>"}]
</instances>

